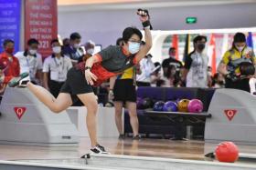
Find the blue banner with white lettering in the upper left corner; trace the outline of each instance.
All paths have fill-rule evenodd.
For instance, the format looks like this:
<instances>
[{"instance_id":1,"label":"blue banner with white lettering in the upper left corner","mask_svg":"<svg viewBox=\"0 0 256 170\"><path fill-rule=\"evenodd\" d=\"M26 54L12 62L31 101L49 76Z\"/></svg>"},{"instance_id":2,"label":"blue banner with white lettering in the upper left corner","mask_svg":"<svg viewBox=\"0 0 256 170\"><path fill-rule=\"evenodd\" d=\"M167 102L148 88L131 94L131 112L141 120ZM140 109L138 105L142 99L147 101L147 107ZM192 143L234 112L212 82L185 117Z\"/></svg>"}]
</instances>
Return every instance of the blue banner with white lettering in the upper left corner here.
<instances>
[{"instance_id":1,"label":"blue banner with white lettering in the upper left corner","mask_svg":"<svg viewBox=\"0 0 256 170\"><path fill-rule=\"evenodd\" d=\"M0 0L0 52L5 39L15 41L15 51L19 50L21 0Z\"/></svg>"}]
</instances>

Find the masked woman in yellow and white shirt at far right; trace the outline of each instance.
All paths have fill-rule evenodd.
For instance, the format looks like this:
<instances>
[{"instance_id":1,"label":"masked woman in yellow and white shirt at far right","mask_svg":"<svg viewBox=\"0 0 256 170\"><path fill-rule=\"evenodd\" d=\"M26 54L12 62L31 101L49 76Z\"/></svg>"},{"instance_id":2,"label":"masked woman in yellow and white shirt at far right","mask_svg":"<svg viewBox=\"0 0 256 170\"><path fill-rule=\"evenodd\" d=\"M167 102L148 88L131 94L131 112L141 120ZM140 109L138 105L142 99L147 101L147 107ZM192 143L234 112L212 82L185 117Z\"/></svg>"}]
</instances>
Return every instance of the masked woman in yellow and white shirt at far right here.
<instances>
[{"instance_id":1,"label":"masked woman in yellow and white shirt at far right","mask_svg":"<svg viewBox=\"0 0 256 170\"><path fill-rule=\"evenodd\" d=\"M232 47L222 57L218 71L225 76L225 87L244 90L250 93L249 80L251 76L240 79L240 65L256 64L253 50L246 45L246 36L242 33L234 35Z\"/></svg>"}]
</instances>

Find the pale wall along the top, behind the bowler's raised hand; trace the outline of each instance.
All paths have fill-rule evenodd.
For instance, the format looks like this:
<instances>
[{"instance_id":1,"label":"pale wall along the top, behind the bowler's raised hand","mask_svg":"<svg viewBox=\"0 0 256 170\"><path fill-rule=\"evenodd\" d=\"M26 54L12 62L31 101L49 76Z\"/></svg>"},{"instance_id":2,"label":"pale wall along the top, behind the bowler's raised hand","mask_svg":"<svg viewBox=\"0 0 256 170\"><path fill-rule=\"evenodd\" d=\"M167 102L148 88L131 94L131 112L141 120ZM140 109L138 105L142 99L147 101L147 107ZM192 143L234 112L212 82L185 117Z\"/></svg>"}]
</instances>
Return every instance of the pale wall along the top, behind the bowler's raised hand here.
<instances>
[{"instance_id":1,"label":"pale wall along the top, behind the bowler's raised hand","mask_svg":"<svg viewBox=\"0 0 256 170\"><path fill-rule=\"evenodd\" d=\"M115 44L123 28L134 25L142 28L135 15L137 6L123 9L99 6L59 6L59 35L68 37L79 32L82 41L89 39L106 47ZM155 30L213 29L256 26L256 3L227 5L191 5L149 7ZM185 18L196 16L196 25L187 25Z\"/></svg>"}]
</instances>

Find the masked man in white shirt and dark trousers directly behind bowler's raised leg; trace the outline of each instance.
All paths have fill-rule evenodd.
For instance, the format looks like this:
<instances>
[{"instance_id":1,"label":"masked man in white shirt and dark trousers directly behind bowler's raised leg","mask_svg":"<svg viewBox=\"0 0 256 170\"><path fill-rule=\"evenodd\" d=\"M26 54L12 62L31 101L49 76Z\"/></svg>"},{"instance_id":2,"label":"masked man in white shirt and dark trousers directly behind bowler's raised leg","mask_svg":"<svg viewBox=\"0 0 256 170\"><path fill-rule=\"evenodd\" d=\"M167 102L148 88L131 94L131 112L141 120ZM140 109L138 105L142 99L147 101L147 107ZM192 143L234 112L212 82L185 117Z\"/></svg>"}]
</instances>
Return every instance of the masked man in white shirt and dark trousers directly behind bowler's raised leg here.
<instances>
[{"instance_id":1,"label":"masked man in white shirt and dark trousers directly behind bowler's raised leg","mask_svg":"<svg viewBox=\"0 0 256 170\"><path fill-rule=\"evenodd\" d=\"M61 46L58 39L51 41L52 55L48 56L44 62L44 87L57 97L61 86L67 79L67 73L72 67L68 56L61 53Z\"/></svg>"}]
</instances>

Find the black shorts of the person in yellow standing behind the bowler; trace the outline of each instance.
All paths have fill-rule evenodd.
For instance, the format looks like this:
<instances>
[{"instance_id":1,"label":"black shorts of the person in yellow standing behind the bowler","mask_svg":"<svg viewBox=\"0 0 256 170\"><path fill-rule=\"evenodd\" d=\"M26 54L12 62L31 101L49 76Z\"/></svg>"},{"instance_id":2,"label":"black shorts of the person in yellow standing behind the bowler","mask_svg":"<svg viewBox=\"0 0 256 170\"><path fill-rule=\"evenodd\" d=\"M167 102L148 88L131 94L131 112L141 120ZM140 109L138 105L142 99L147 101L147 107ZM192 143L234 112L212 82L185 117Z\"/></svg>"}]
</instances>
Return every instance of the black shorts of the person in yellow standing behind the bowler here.
<instances>
[{"instance_id":1,"label":"black shorts of the person in yellow standing behind the bowler","mask_svg":"<svg viewBox=\"0 0 256 170\"><path fill-rule=\"evenodd\" d=\"M133 79L117 79L113 87L113 101L136 102L136 87Z\"/></svg>"}]
</instances>

